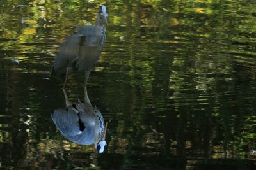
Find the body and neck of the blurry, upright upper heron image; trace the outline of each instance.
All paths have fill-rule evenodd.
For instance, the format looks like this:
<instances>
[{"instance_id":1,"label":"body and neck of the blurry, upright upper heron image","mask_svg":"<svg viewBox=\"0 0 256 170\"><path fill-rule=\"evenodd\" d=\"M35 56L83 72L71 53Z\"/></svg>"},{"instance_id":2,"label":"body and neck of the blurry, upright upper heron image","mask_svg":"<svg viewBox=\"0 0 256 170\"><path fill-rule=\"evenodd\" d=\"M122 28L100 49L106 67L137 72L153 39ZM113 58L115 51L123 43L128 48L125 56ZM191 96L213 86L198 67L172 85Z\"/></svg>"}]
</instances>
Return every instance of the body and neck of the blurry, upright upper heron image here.
<instances>
[{"instance_id":1,"label":"body and neck of the blurry, upright upper heron image","mask_svg":"<svg viewBox=\"0 0 256 170\"><path fill-rule=\"evenodd\" d=\"M95 25L78 27L77 33L68 36L60 46L52 75L65 78L64 88L73 69L91 71L93 64L99 60L106 39L106 16L105 9L103 14L97 14Z\"/></svg>"}]
</instances>

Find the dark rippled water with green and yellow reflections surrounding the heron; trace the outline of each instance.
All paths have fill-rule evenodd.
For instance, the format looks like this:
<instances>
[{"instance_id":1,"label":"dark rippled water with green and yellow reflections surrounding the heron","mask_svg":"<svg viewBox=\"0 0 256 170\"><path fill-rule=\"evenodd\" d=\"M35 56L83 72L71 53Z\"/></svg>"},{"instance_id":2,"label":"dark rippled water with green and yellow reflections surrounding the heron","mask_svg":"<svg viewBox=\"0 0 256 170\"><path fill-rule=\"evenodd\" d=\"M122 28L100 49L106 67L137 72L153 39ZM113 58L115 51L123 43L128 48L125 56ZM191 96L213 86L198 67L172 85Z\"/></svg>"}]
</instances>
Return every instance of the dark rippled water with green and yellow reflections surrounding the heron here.
<instances>
[{"instance_id":1,"label":"dark rippled water with green and yellow reflections surrounding the heron","mask_svg":"<svg viewBox=\"0 0 256 170\"><path fill-rule=\"evenodd\" d=\"M0 1L0 169L255 169L256 1L104 1L88 94L108 148L61 136L54 57L100 3ZM72 101L83 81L70 76Z\"/></svg>"}]
</instances>

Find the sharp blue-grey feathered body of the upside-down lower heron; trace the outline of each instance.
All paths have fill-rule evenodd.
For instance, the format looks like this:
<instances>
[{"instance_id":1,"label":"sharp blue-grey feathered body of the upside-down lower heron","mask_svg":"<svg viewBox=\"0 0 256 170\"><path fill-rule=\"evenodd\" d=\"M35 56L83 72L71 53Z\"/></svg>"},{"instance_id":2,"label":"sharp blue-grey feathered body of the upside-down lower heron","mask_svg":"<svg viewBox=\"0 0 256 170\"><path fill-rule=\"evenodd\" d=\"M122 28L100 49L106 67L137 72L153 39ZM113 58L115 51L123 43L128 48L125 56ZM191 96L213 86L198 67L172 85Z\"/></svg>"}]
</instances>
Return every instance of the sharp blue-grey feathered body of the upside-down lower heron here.
<instances>
[{"instance_id":1,"label":"sharp blue-grey feathered body of the upside-down lower heron","mask_svg":"<svg viewBox=\"0 0 256 170\"><path fill-rule=\"evenodd\" d=\"M51 115L61 134L74 143L97 144L104 132L102 114L89 103L78 101L67 108L54 110Z\"/></svg>"}]
</instances>

